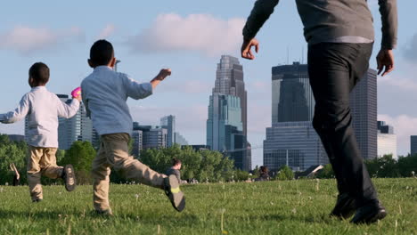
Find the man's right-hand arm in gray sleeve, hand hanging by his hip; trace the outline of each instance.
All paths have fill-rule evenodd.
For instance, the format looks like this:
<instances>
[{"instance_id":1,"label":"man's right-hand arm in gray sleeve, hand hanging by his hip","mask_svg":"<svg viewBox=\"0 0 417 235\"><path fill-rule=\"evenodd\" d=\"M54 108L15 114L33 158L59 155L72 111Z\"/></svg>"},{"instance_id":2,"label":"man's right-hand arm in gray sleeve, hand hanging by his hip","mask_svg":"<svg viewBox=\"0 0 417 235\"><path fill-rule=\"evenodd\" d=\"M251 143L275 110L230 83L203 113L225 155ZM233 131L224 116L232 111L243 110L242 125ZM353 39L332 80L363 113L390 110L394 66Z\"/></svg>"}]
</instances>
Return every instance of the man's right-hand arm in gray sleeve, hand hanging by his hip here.
<instances>
[{"instance_id":1,"label":"man's right-hand arm in gray sleeve, hand hanging by his hip","mask_svg":"<svg viewBox=\"0 0 417 235\"><path fill-rule=\"evenodd\" d=\"M382 41L380 53L377 55L378 74L382 76L394 70L394 53L397 46L397 0L379 0L380 17L382 22Z\"/></svg>"}]
</instances>

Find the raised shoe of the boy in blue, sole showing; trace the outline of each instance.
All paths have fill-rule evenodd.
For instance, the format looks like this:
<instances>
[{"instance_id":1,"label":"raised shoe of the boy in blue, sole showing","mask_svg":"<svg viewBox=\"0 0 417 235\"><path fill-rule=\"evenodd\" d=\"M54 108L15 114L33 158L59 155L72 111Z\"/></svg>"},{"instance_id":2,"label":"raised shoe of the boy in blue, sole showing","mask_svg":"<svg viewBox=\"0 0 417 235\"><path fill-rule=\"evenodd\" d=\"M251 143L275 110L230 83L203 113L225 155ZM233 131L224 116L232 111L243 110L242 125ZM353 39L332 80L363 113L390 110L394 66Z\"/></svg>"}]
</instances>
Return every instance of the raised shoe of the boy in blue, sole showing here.
<instances>
[{"instance_id":1,"label":"raised shoe of the boy in blue, sole showing","mask_svg":"<svg viewBox=\"0 0 417 235\"><path fill-rule=\"evenodd\" d=\"M170 174L164 179L164 190L168 199L171 201L172 207L181 212L185 208L184 193L179 188L178 179L175 174Z\"/></svg>"}]
</instances>

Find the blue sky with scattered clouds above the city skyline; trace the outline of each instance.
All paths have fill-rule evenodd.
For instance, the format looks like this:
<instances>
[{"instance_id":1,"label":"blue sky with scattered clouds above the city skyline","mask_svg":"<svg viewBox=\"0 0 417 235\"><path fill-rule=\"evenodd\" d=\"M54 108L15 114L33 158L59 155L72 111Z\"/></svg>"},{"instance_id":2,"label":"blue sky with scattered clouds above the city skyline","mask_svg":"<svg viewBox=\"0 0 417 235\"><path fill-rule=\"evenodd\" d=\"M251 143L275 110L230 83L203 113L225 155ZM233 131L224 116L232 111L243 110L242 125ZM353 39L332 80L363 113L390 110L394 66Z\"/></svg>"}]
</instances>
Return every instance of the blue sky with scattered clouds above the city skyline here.
<instances>
[{"instance_id":1,"label":"blue sky with scattered clouds above the city skyline","mask_svg":"<svg viewBox=\"0 0 417 235\"><path fill-rule=\"evenodd\" d=\"M119 71L149 82L159 69L172 69L151 97L128 100L135 121L159 125L176 116L176 130L191 144L206 142L208 96L222 54L239 58L241 28L254 0L211 1L7 1L0 8L0 112L15 109L29 92L28 69L37 61L51 69L47 88L70 93L91 73L86 63L90 46L105 38L121 61ZM377 0L368 4L376 29L371 68L380 49ZM379 120L394 126L398 154L410 151L409 136L417 134L417 2L398 1L399 29L396 70L378 78ZM282 0L259 31L255 61L243 61L248 91L248 131L252 165L262 165L262 142L271 126L271 68L306 62L307 43L295 1ZM287 54L287 50L290 52ZM0 133L23 134L23 122L0 124Z\"/></svg>"}]
</instances>

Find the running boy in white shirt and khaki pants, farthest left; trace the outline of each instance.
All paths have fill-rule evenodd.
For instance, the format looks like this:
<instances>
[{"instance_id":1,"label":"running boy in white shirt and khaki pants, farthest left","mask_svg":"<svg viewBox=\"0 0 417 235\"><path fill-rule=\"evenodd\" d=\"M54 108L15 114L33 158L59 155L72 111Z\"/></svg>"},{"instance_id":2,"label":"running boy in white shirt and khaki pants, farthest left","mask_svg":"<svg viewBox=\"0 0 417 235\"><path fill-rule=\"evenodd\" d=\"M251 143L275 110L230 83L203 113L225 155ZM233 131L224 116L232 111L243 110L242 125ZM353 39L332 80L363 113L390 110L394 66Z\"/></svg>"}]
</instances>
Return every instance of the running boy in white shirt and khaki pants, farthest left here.
<instances>
[{"instance_id":1,"label":"running boy in white shirt and khaki pants, farthest left","mask_svg":"<svg viewBox=\"0 0 417 235\"><path fill-rule=\"evenodd\" d=\"M29 69L29 85L32 89L23 95L17 109L0 114L0 121L5 124L28 118L27 174L33 202L44 199L41 175L51 179L62 178L68 191L76 186L74 168L71 165L57 166L55 153L58 149L58 117L73 117L78 111L81 97L73 97L75 99L66 104L56 94L48 92L45 87L48 81L49 68L45 63L33 64Z\"/></svg>"}]
</instances>

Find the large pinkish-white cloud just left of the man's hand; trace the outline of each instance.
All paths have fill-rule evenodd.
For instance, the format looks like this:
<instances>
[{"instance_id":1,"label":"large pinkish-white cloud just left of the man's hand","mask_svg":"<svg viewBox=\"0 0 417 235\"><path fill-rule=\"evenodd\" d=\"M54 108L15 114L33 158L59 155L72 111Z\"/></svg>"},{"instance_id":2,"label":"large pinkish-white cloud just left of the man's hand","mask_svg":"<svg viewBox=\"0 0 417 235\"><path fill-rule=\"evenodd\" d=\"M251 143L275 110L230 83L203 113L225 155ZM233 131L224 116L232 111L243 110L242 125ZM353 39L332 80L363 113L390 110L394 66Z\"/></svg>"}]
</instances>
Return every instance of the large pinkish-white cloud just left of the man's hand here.
<instances>
[{"instance_id":1,"label":"large pinkish-white cloud just left of the man's hand","mask_svg":"<svg viewBox=\"0 0 417 235\"><path fill-rule=\"evenodd\" d=\"M236 53L241 45L244 22L241 18L222 20L209 14L186 17L160 14L150 28L131 37L128 45L139 53L192 51L209 56Z\"/></svg>"}]
</instances>

